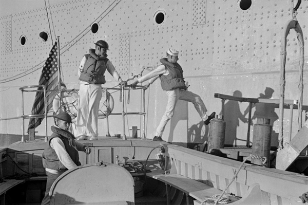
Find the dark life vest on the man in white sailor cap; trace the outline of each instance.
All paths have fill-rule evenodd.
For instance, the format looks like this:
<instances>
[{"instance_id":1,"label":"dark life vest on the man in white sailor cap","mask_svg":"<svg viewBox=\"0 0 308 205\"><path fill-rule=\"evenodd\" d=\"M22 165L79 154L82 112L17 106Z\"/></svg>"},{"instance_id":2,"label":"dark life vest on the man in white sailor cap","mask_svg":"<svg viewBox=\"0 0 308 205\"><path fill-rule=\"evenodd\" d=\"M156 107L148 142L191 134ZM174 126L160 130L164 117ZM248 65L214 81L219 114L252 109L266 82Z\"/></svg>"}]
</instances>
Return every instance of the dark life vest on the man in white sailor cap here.
<instances>
[{"instance_id":1,"label":"dark life vest on the man in white sailor cap","mask_svg":"<svg viewBox=\"0 0 308 205\"><path fill-rule=\"evenodd\" d=\"M183 78L183 69L178 63L170 63L166 58L160 60L160 62L169 71L166 76L160 74L161 86L163 90L174 90L177 88L187 89Z\"/></svg>"}]
</instances>

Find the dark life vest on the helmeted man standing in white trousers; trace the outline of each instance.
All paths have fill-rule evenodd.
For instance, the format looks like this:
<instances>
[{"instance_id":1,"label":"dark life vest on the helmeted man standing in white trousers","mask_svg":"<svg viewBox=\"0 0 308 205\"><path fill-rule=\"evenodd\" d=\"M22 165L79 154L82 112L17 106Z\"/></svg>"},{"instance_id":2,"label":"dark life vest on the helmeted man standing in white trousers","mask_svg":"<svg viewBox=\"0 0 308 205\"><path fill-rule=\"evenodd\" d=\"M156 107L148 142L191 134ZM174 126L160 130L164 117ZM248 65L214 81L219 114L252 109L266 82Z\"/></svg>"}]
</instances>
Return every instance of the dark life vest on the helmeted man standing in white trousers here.
<instances>
[{"instance_id":1,"label":"dark life vest on the helmeted man standing in white trousers","mask_svg":"<svg viewBox=\"0 0 308 205\"><path fill-rule=\"evenodd\" d=\"M105 84L105 71L106 64L109 61L107 58L97 61L91 54L85 54L86 62L83 72L81 72L79 80L86 81L88 83ZM96 63L96 66L94 67Z\"/></svg>"}]
</instances>

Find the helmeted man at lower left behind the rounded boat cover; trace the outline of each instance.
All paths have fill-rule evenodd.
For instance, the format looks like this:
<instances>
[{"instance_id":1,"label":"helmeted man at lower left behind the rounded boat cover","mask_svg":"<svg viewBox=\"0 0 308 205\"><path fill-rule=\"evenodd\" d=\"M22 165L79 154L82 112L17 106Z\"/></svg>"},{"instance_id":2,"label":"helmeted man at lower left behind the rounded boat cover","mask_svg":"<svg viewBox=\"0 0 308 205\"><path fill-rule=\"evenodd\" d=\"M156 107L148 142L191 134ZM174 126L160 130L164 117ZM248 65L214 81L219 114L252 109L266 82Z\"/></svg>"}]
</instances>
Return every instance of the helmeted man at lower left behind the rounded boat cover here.
<instances>
[{"instance_id":1,"label":"helmeted man at lower left behind the rounded boat cover","mask_svg":"<svg viewBox=\"0 0 308 205\"><path fill-rule=\"evenodd\" d=\"M55 125L51 126L53 132L46 143L43 152L43 166L46 170L47 183L45 197L42 204L50 203L49 191L52 183L65 171L81 165L78 151L87 155L91 148L75 140L75 137L68 132L72 119L67 113L60 113L55 118Z\"/></svg>"}]
</instances>

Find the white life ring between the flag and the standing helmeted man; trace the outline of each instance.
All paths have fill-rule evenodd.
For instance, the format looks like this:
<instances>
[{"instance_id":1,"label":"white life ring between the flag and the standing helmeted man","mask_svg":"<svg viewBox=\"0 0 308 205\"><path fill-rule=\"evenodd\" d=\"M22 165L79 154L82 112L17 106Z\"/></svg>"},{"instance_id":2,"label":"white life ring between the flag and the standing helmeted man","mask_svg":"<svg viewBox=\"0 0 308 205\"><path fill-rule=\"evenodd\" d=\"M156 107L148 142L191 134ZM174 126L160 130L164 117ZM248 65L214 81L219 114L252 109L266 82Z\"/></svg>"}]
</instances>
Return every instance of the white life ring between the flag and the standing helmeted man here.
<instances>
[{"instance_id":1,"label":"white life ring between the flag and the standing helmeted man","mask_svg":"<svg viewBox=\"0 0 308 205\"><path fill-rule=\"evenodd\" d=\"M72 119L77 117L78 110L78 92L76 90L61 91L61 102L59 92L52 101L52 108L55 114L59 114L60 110L69 114Z\"/></svg>"}]
</instances>

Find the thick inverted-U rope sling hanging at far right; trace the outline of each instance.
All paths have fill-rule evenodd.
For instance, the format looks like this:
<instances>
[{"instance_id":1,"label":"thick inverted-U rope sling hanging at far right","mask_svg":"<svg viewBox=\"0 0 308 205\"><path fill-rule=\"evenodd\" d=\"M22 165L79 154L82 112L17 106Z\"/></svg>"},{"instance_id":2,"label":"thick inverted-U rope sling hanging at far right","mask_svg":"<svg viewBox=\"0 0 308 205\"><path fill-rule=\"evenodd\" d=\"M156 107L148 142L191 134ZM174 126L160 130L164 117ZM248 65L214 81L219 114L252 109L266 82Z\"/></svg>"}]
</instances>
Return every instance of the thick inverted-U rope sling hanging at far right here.
<instances>
[{"instance_id":1,"label":"thick inverted-U rope sling hanging at far right","mask_svg":"<svg viewBox=\"0 0 308 205\"><path fill-rule=\"evenodd\" d=\"M300 2L300 1L299 1ZM298 7L298 6L296 6ZM295 10L295 9L294 9ZM293 28L297 32L297 39L299 41L299 69L300 69L300 78L299 78L299 102L298 102L298 126L299 129L302 127L302 95L303 95L303 66L304 66L304 39L303 32L299 23L295 20L296 10L293 11L294 19L287 22L285 29L283 31L283 37L281 40L281 51L280 51L280 103L279 103L279 149L283 148L283 105L284 105L284 87L285 87L285 59L286 59L286 37L290 32L290 29Z\"/></svg>"}]
</instances>

